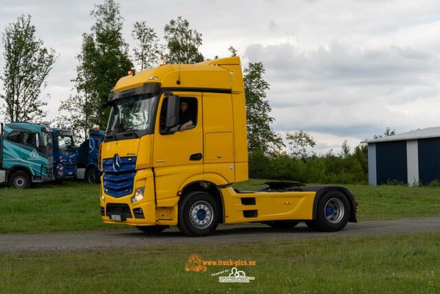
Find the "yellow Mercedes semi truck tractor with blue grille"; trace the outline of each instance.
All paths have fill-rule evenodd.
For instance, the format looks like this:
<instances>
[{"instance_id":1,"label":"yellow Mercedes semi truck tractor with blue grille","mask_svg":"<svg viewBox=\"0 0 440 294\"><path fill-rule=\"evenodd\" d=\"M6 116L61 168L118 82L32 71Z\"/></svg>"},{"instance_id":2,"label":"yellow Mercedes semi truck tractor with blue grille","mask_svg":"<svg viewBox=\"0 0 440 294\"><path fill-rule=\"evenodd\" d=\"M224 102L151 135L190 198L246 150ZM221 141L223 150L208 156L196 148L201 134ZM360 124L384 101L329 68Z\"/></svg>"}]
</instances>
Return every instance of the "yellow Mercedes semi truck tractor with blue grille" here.
<instances>
[{"instance_id":1,"label":"yellow Mercedes semi truck tractor with blue grille","mask_svg":"<svg viewBox=\"0 0 440 294\"><path fill-rule=\"evenodd\" d=\"M338 231L356 222L344 187L248 180L248 141L239 57L162 65L120 78L100 150L102 220L158 233L177 225L202 236L219 223L263 222Z\"/></svg>"}]
</instances>

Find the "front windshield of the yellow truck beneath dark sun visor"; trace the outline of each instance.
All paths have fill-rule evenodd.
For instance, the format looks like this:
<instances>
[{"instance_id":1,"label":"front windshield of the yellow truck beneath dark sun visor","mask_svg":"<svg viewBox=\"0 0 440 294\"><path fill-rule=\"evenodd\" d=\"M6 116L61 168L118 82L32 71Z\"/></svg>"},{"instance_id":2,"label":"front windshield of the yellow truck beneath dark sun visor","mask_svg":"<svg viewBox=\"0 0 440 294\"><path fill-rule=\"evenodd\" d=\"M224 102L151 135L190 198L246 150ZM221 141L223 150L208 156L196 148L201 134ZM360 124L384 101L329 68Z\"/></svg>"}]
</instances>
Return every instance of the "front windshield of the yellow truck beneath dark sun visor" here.
<instances>
[{"instance_id":1,"label":"front windshield of the yellow truck beneath dark sun visor","mask_svg":"<svg viewBox=\"0 0 440 294\"><path fill-rule=\"evenodd\" d=\"M150 127L154 99L146 94L123 98L111 108L107 132L142 131Z\"/></svg>"}]
</instances>

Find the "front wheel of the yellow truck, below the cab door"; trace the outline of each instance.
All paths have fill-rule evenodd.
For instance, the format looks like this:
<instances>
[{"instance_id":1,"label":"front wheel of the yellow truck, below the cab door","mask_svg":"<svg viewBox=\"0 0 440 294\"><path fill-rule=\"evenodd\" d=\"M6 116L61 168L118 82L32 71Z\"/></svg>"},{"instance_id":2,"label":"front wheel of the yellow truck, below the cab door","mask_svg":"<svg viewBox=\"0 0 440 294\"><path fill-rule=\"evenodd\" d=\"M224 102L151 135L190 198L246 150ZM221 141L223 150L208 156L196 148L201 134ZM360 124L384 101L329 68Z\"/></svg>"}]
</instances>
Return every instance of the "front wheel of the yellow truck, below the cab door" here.
<instances>
[{"instance_id":1,"label":"front wheel of the yellow truck, below the cab door","mask_svg":"<svg viewBox=\"0 0 440 294\"><path fill-rule=\"evenodd\" d=\"M217 228L219 219L219 204L206 192L190 192L179 203L177 227L185 235L208 235Z\"/></svg>"}]
</instances>

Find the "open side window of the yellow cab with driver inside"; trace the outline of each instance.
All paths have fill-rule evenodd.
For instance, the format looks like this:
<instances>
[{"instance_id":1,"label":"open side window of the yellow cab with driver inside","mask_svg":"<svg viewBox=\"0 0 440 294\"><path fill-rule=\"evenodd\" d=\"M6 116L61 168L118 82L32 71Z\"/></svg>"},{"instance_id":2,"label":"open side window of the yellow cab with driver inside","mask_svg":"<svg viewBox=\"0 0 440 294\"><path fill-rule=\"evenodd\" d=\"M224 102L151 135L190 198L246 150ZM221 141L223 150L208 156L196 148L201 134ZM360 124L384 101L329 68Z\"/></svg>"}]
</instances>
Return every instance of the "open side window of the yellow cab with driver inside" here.
<instances>
[{"instance_id":1,"label":"open side window of the yellow cab with driver inside","mask_svg":"<svg viewBox=\"0 0 440 294\"><path fill-rule=\"evenodd\" d=\"M160 109L159 128L161 131L166 131L166 105L168 97L164 98L162 108ZM194 97L180 97L179 107L179 124L173 127L172 131L186 131L193 129L197 125L197 98Z\"/></svg>"}]
</instances>

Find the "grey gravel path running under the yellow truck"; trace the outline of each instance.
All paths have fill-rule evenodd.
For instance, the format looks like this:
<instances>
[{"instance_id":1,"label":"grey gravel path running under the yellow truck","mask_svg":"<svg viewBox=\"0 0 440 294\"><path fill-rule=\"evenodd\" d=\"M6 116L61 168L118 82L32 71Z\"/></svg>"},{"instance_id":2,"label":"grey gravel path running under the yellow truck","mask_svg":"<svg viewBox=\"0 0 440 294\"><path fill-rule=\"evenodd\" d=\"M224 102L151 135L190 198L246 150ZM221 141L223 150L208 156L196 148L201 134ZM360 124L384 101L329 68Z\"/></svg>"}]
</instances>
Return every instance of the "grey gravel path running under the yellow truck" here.
<instances>
[{"instance_id":1,"label":"grey gravel path running under the yellow truck","mask_svg":"<svg viewBox=\"0 0 440 294\"><path fill-rule=\"evenodd\" d=\"M403 218L349 223L336 233L321 233L298 224L291 230L276 230L260 224L221 225L212 235L190 238L177 229L160 235L144 235L137 230L83 231L69 233L0 234L0 253L23 251L80 251L91 249L142 248L181 244L236 244L260 240L305 240L309 238L352 237L358 235L390 235L402 233L440 232L440 218Z\"/></svg>"}]
</instances>

